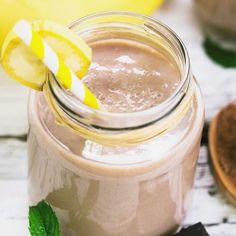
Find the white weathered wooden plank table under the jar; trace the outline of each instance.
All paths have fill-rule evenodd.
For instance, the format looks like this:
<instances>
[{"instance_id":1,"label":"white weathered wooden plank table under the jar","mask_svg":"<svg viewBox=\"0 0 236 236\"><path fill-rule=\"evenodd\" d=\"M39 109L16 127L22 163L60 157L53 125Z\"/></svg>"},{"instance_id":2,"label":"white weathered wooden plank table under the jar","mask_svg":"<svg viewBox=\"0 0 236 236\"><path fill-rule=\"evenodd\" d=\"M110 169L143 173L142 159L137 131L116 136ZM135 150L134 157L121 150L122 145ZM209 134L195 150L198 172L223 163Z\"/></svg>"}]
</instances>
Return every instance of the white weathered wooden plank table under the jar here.
<instances>
[{"instance_id":1,"label":"white weathered wooden plank table under the jar","mask_svg":"<svg viewBox=\"0 0 236 236\"><path fill-rule=\"evenodd\" d=\"M202 34L191 0L169 0L155 18L183 39L206 103L206 128L217 111L236 98L236 70L222 69L204 54ZM0 235L26 236L27 225L27 89L0 68ZM236 235L236 208L218 191L208 165L206 133L200 151L192 209L185 225L203 222L211 236Z\"/></svg>"}]
</instances>

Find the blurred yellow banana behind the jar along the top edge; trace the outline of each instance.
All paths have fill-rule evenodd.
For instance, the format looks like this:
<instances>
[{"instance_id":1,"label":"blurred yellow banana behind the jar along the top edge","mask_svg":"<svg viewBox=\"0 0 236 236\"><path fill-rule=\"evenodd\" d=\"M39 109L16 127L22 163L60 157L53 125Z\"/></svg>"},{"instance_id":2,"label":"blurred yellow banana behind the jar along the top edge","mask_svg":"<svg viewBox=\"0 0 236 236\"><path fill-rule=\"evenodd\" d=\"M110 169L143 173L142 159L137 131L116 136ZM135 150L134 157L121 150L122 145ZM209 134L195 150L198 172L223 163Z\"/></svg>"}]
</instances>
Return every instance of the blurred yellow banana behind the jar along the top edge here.
<instances>
[{"instance_id":1,"label":"blurred yellow banana behind the jar along the top edge","mask_svg":"<svg viewBox=\"0 0 236 236\"><path fill-rule=\"evenodd\" d=\"M53 20L68 24L79 17L101 11L135 11L152 14L164 0L1 0L0 51L4 38L17 20Z\"/></svg>"}]
</instances>

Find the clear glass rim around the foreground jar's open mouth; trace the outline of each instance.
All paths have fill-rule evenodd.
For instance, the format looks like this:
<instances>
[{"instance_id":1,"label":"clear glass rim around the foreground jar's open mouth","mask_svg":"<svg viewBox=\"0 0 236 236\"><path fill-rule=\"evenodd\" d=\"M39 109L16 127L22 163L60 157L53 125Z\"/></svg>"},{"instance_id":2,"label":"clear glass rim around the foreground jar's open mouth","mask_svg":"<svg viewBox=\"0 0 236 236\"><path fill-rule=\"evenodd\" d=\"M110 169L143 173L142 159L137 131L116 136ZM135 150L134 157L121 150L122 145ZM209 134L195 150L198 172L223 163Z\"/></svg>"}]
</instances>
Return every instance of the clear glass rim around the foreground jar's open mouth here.
<instances>
[{"instance_id":1,"label":"clear glass rim around the foreground jar's open mouth","mask_svg":"<svg viewBox=\"0 0 236 236\"><path fill-rule=\"evenodd\" d=\"M79 20L76 20L72 22L69 25L70 29L73 29L79 24L82 24L84 22L88 22L93 19L98 19L101 17L131 17L135 19L139 19L144 22L144 26L147 26L148 24L155 30L159 28L159 30L164 30L165 33L168 33L169 37L172 37L172 40L174 40L174 43L178 46L180 53L182 55L182 75L181 80L176 88L176 90L171 94L167 99L165 99L163 102L142 110L142 111L135 111L135 112L107 112L103 110L95 110L93 108L90 108L83 103L79 102L76 98L72 96L68 96L68 93L60 86L60 84L56 81L54 76L49 76L48 79L48 85L49 90L53 94L56 102L59 104L60 108L65 112L69 117L73 118L74 120L82 123L83 125L86 123L85 118L88 118L88 123L86 125L93 126L94 128L104 129L104 130L133 130L137 128L146 127L150 124L153 124L165 116L169 115L184 99L186 92L190 85L190 77L191 77L191 70L190 70L190 59L187 52L187 49L182 42L182 40L178 37L178 35L171 30L168 26L165 24L159 22L156 19L153 19L152 17L144 16L138 13L133 12L124 12L124 11L111 11L111 12L100 12L95 14L90 14L88 16L85 16ZM152 29L153 30L153 29ZM79 113L79 114L78 114ZM120 127L120 123L116 123L114 125L111 125L109 123L108 125L99 125L94 123L93 119L94 117L105 117L104 120L112 121L112 120L130 120L131 122L124 122L126 125L122 125ZM155 119L148 119L148 117L155 117ZM78 118L78 119L77 119ZM137 124L130 124L133 123L133 120L140 120L140 123Z\"/></svg>"}]
</instances>

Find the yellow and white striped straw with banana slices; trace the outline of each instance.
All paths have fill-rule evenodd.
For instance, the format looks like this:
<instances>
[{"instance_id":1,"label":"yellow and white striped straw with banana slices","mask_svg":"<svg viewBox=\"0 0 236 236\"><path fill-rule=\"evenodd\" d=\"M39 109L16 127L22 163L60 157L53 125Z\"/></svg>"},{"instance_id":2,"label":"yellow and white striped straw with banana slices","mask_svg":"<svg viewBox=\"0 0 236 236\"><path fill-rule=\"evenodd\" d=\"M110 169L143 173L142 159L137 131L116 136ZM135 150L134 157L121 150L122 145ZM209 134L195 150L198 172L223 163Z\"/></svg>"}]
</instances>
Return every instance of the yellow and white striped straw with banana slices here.
<instances>
[{"instance_id":1,"label":"yellow and white striped straw with banana slices","mask_svg":"<svg viewBox=\"0 0 236 236\"><path fill-rule=\"evenodd\" d=\"M18 21L14 27L14 33L47 66L65 89L69 89L87 106L99 108L99 102L95 95L58 57L46 41L32 29L28 21Z\"/></svg>"}]
</instances>

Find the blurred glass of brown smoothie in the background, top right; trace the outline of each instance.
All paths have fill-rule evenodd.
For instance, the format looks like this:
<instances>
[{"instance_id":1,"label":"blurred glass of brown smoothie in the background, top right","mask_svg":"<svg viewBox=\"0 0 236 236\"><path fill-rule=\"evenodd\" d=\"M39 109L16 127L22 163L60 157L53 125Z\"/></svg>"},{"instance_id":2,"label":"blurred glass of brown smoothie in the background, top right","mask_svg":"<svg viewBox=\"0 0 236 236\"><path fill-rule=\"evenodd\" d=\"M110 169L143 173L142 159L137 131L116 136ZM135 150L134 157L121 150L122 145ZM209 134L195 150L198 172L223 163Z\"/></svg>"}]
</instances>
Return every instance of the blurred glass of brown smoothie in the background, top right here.
<instances>
[{"instance_id":1,"label":"blurred glass of brown smoothie in the background, top right","mask_svg":"<svg viewBox=\"0 0 236 236\"><path fill-rule=\"evenodd\" d=\"M206 33L222 46L236 49L236 0L195 0Z\"/></svg>"}]
</instances>

